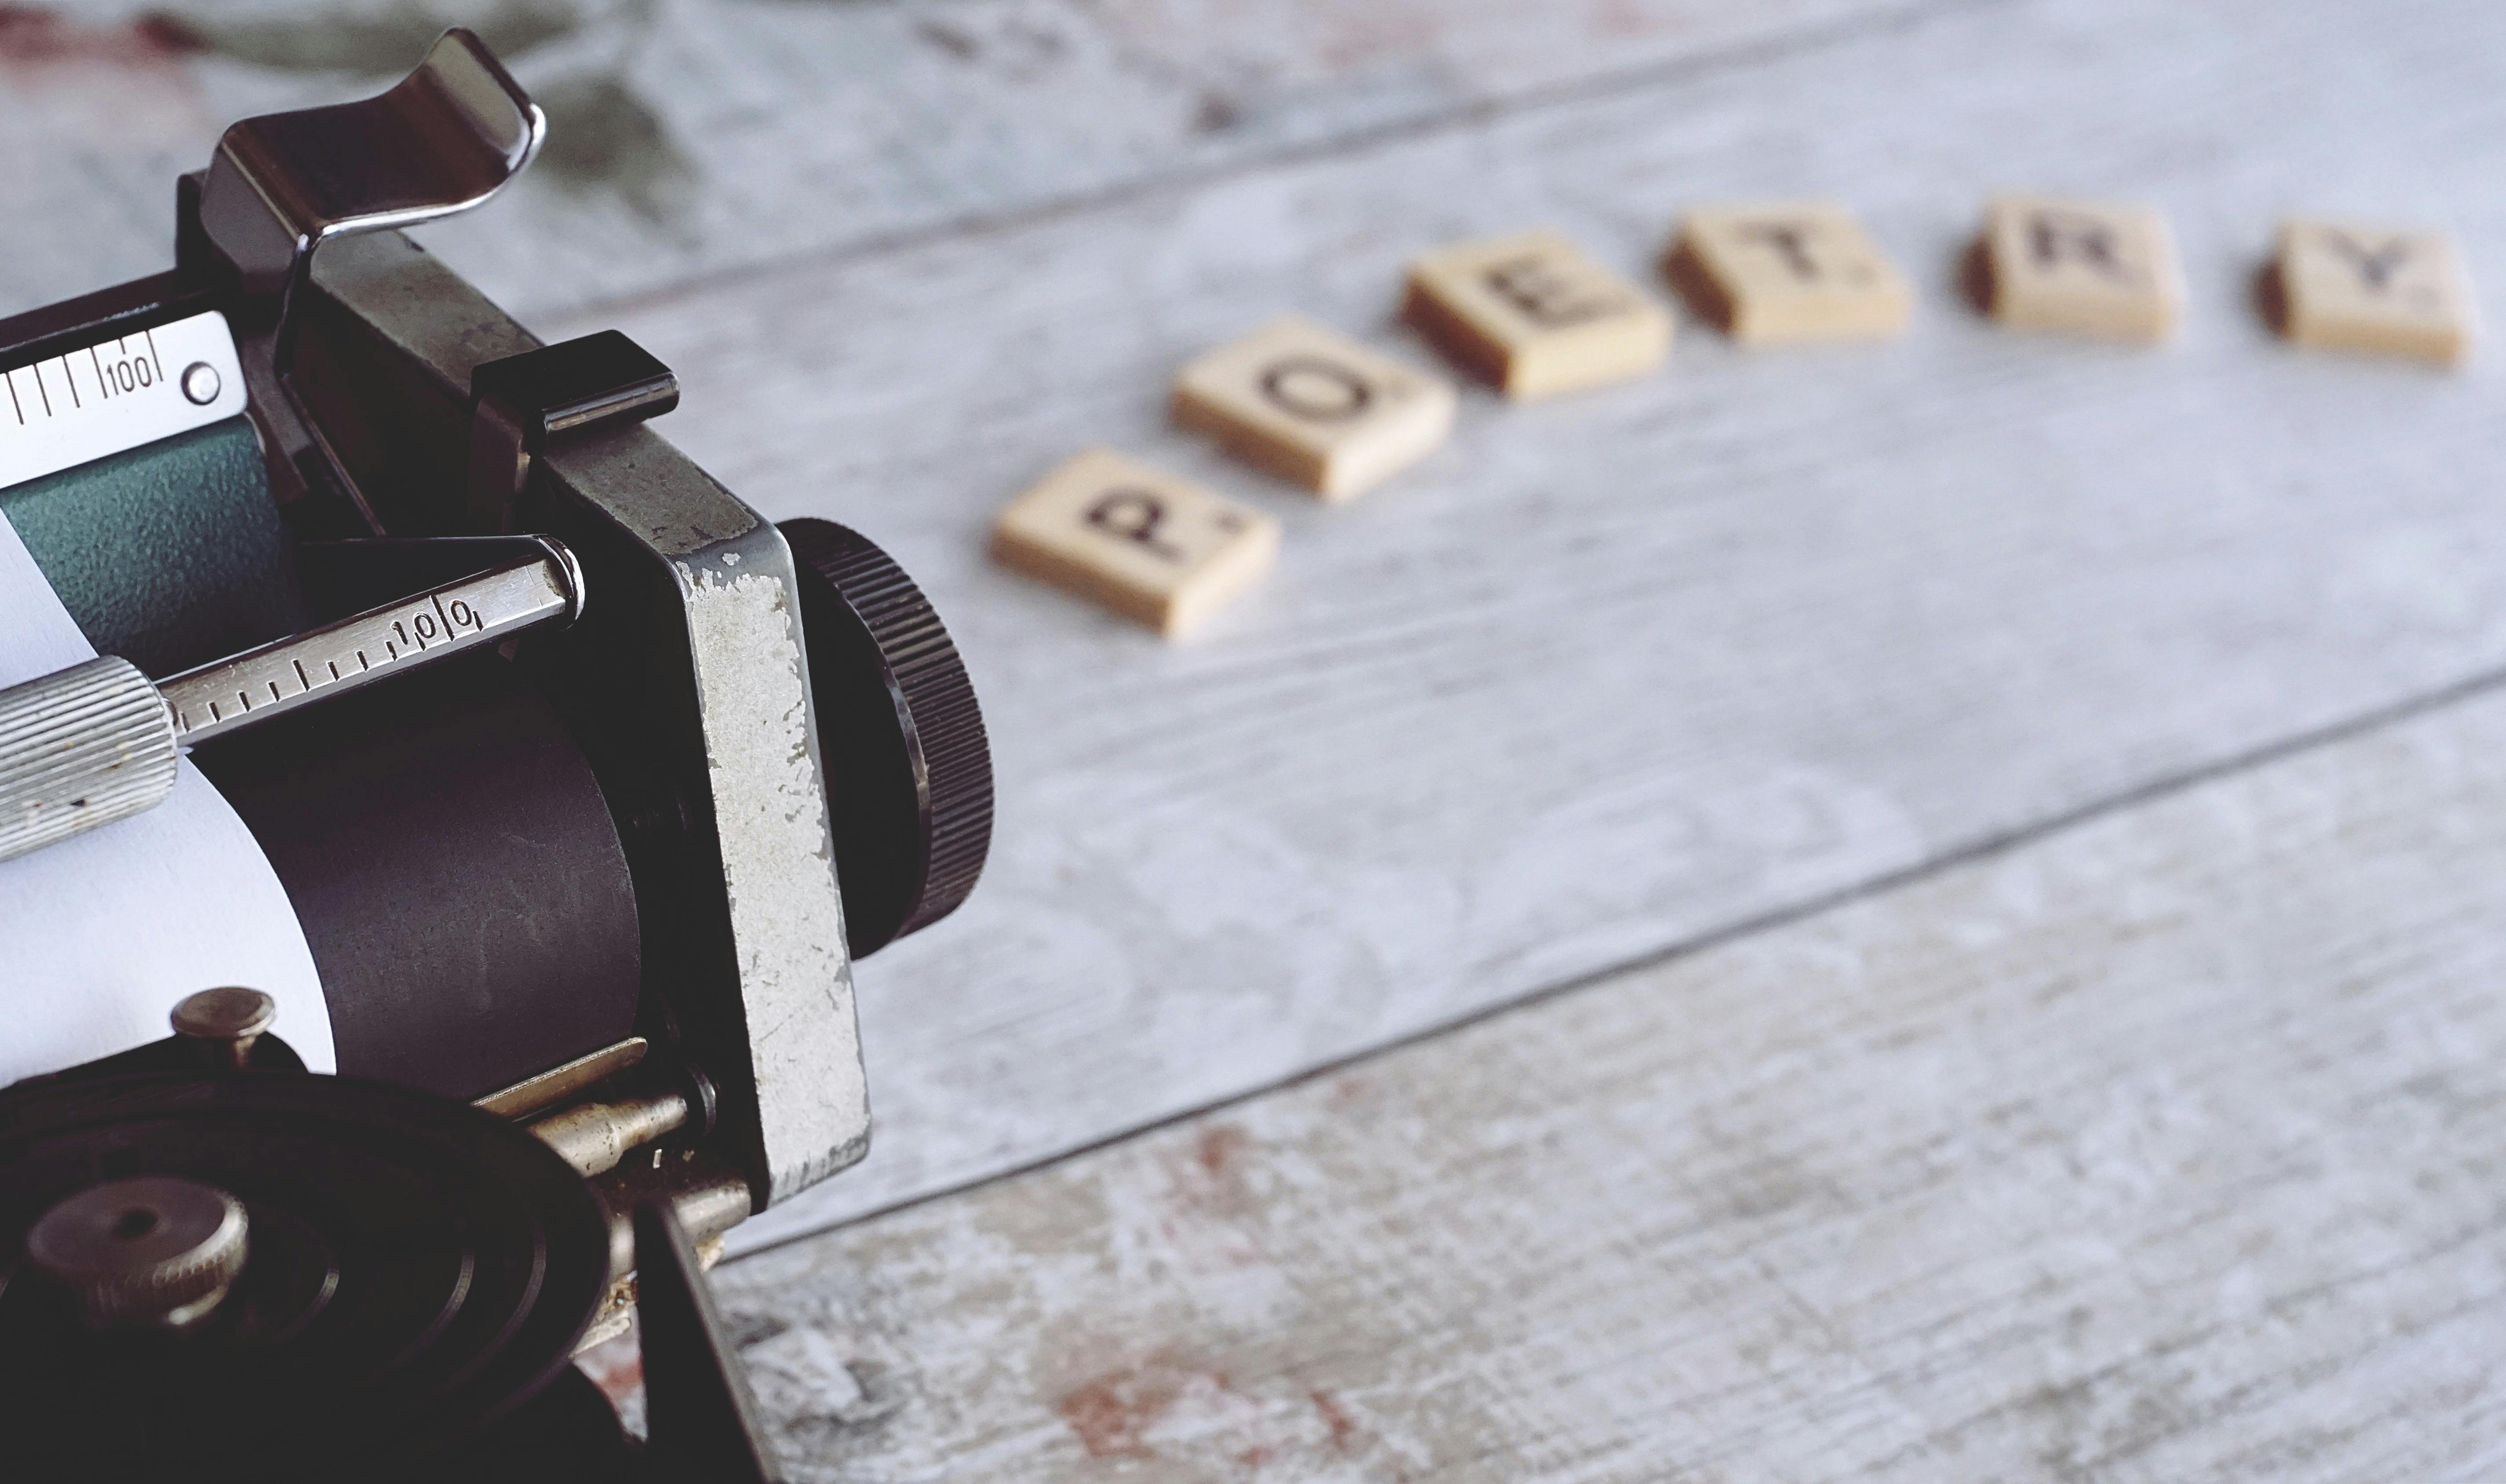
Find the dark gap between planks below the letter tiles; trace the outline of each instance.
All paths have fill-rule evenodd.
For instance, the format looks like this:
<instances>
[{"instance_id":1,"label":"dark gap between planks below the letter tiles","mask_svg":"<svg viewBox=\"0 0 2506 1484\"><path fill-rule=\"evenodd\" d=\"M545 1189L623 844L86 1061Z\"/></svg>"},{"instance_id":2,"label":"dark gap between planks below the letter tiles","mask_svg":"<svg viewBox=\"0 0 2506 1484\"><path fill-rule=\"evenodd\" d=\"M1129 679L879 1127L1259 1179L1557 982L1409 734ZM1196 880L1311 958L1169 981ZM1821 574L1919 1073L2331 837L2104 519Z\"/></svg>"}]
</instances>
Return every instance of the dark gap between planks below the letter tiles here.
<instances>
[{"instance_id":1,"label":"dark gap between planks below the letter tiles","mask_svg":"<svg viewBox=\"0 0 2506 1484\"><path fill-rule=\"evenodd\" d=\"M1794 922L1807 922L1812 917L1819 917L1824 912L1834 912L1839 907L1849 907L1854 902L1867 902L1872 897L1885 897L1885 895L1897 892L1902 887L1910 887L1915 882L1922 882L1922 880L1930 880L1930 877L1937 877L1937 875L1945 875L1945 872L1952 872L1952 870L1960 870L1960 867L1967 867L1967 865L1987 862L1987 860L1995 860L1995 857L2025 850L2025 847L2037 845L2042 840L2052 840L2052 837L2067 835L2072 830L2082 830L2087 825L2095 825L2100 820L2110 820L2115 815L2128 815L2133 810L2140 810L2140 807L2148 807L2148 805L2155 805L2155 802L2163 802L2163 800L2170 800L2170 797L2178 797L2178 795L2188 795L2188 792L2193 792L2193 790L2198 790L2203 785L2210 785L2210 782L2218 782L2218 780L2225 780L2225 777L2235 777L2240 772L2253 772L2258 767L2270 767L2275 762L2285 762L2285 760L2301 757L2306 752L2321 752L2326 747L2338 747L2341 742L2351 742L2351 739L2358 739L2358 737L2371 737L2376 732L2386 732L2386 729L2393 729L2393 727L2406 727L2408 722L2416 722L2421 717L2443 712L2443 709L2456 707L2456 704L2473 702L2473 699L2478 699L2483 694L2491 694L2491 692L2498 692L2498 689L2506 689L2506 667L2483 669L2478 674L2468 674L2463 679L2456 679L2451 684L2441 684L2436 689L2421 692L2421 694L2401 699L2401 702L2373 707L2373 709L2358 712L2353 717L2343 717L2338 722L2328 722L2323 727L2311 727L2306 732L2293 732L2293 734L2280 737L2275 742L2263 742L2260 747L2245 747L2245 750L2230 752L2225 757L2213 757L2208 762L2198 762L2193 767L2183 767L2183 770L2175 770L2175 772L2168 772L2168 775L2138 782L2138 785L2133 785L2128 790L2105 795L2100 800L2087 800L2082 805L2072 805L2067 810L2045 815L2042 820L2030 820L2030 822L2022 822L2022 825L2012 825L2010 830L1997 830L1992 835L1980 835L1975 840L1952 845L1950 850L1942 850L1942 852L1930 855L1925 860L1917 860L1912 865L1905 865L1905 867L1897 867L1897 870L1885 870L1885 872L1879 872L1874 877L1867 877L1867 880L1859 880L1859 882L1852 882L1852 885L1844 885L1844 887L1834 887L1834 890L1827 890L1827 892L1819 892L1819 895L1812 895L1812 897L1802 897L1799 902L1787 902L1787 905L1772 907L1767 912L1757 912L1757 915L1747 915L1747 917L1734 917L1732 922L1722 922L1722 925L1717 925L1717 927L1712 927L1707 933L1697 933L1692 938L1682 938L1682 940L1669 943L1664 948L1654 948L1649 953L1639 953L1639 955L1631 955L1631 958L1624 958L1624 960L1616 960L1616 963L1609 963L1609 965L1601 965L1601 968L1581 970L1581 973L1576 973L1571 978L1564 978L1564 980L1559 980L1554 985L1541 985L1541 988L1536 988L1536 990L1531 990L1526 995L1516 995L1511 1000L1499 1000L1499 1003L1491 1003L1491 1005L1479 1005L1479 1008L1466 1010L1461 1015L1451 1015L1446 1020L1436 1020L1436 1023L1428 1023L1428 1025L1418 1025L1413 1030L1403 1030L1401 1035L1393 1035L1388 1040L1381 1040L1381 1043L1373 1043L1373 1045L1363 1045L1363 1048L1351 1050L1346 1055L1336 1055L1331 1060L1321 1060L1321 1063L1298 1068L1298 1070L1293 1070L1293 1073L1288 1073L1283 1078L1271 1078L1268 1083L1240 1088L1240 1090L1228 1093L1223 1098L1208 1098L1208 1100L1193 1103L1188 1108L1175 1108L1170 1113L1160 1113L1158 1118L1148 1118L1148 1121L1140 1121L1140 1123L1133 1123L1133 1126L1125 1126L1125 1128L1118 1128L1118 1131L1110 1131L1110 1133L1100 1133L1100 1136L1095 1136L1095 1138L1090 1138L1085 1143L1075 1143L1070 1148L1060 1148L1060 1151L1048 1153L1042 1158L1032 1158L1032 1161L1022 1161L1022 1163L1015 1163L1015 1166L1005 1166L1005 1168L1000 1168L995 1173L985 1173L985 1176L977 1176L972 1181L957 1181L957 1183L950 1183L950 1186L937 1186L937 1188L907 1196L902 1201L890 1201L885 1206L870 1206L867 1211L857 1211L852 1216L845 1216L840 1221L829 1221L824 1226L809 1226L807 1231L794 1231L794 1233L774 1236L774 1238L769 1238L764 1243L742 1248L739 1253L734 1253L727 1261L739 1263L739 1261L747 1261L747 1258L754 1258L754 1256L764 1256L764 1253L772 1253L772 1251L779 1251L779 1248L787 1248L787 1246L817 1241L817 1238L824 1238L824 1236L837 1233L837 1231L847 1231L847 1228L855 1228L855 1226L870 1226L870 1223L875 1223L880 1218L887 1218L887 1216L895 1216L900 1211L915 1211L920 1206L932 1206L937 1201L950 1201L955 1196L965 1196L967 1191L980 1191L985 1186L997 1186L997 1183L1005 1183L1005 1181L1017 1181L1022 1176L1032 1176L1037 1171L1050 1171L1055 1166L1088 1158L1093 1153L1115 1148L1120 1143L1130 1143L1135 1138L1148 1138L1148 1136L1160 1133L1165 1128L1178 1128L1183 1123L1193 1123L1193 1121L1205 1118L1210 1113L1223 1113L1228 1108L1240 1108L1245 1103L1261 1103L1263 1098L1271 1098L1273 1093L1283 1093L1283 1090L1291 1090L1291 1088L1303 1088L1308 1083L1318 1083L1323 1078L1331 1078L1331 1075L1338 1075L1338 1073L1351 1070L1356 1065L1363 1065L1363 1063L1371 1063L1371 1060L1381 1060L1386 1055L1393 1055L1393 1053L1423 1045L1428 1040L1441 1040L1441 1038L1448 1038L1453 1033L1469 1030L1469 1028L1489 1023L1489 1020L1501 1020L1506 1015L1519 1015L1519 1013L1534 1010L1539 1005L1546 1005L1551 1000L1574 995L1579 990L1586 990L1586 988L1616 980L1621 975L1639 973L1639 970L1646 970L1646 968L1669 965L1669 963L1677 963L1677 960L1684 960L1684 958L1697 958L1699 953L1712 953L1717 948L1724 948L1724 945L1732 945L1732 943L1739 943L1739 940L1747 940L1747 938L1757 938L1762 933L1789 927Z\"/></svg>"}]
</instances>

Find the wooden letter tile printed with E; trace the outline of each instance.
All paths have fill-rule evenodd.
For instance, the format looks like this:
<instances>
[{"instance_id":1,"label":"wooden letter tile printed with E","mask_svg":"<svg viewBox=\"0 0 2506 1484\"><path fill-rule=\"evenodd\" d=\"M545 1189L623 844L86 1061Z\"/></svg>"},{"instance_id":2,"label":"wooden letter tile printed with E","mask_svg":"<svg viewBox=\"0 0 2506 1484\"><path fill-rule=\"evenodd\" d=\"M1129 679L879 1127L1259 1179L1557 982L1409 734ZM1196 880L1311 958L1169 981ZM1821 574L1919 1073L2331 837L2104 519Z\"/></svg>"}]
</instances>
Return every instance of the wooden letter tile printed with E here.
<instances>
[{"instance_id":1,"label":"wooden letter tile printed with E","mask_svg":"<svg viewBox=\"0 0 2506 1484\"><path fill-rule=\"evenodd\" d=\"M1659 303L1551 231L1413 261L1401 316L1519 401L1644 376L1672 348Z\"/></svg>"}]
</instances>

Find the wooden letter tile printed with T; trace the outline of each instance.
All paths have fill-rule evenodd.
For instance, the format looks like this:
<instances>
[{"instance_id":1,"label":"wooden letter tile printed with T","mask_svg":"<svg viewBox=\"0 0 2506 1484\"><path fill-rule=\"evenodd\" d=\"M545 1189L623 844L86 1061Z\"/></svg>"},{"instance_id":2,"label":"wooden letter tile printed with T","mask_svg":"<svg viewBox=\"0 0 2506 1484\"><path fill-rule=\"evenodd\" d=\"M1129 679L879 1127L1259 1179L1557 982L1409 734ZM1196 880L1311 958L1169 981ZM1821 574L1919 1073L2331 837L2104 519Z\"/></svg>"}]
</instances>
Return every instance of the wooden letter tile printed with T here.
<instances>
[{"instance_id":1,"label":"wooden letter tile printed with T","mask_svg":"<svg viewBox=\"0 0 2506 1484\"><path fill-rule=\"evenodd\" d=\"M1697 313L1749 346L1885 338L1915 313L1879 243L1827 201L1689 213L1669 273Z\"/></svg>"}]
</instances>

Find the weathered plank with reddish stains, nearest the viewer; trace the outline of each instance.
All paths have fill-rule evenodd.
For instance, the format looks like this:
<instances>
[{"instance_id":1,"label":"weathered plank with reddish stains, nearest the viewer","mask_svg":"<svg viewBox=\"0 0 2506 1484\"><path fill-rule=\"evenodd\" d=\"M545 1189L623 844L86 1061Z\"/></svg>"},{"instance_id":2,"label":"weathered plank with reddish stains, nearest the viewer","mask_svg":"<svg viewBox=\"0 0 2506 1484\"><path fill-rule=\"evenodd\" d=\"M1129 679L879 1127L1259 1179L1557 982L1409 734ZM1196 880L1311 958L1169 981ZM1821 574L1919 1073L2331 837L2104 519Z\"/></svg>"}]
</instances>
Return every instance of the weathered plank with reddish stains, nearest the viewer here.
<instances>
[{"instance_id":1,"label":"weathered plank with reddish stains, nearest the viewer","mask_svg":"<svg viewBox=\"0 0 2506 1484\"><path fill-rule=\"evenodd\" d=\"M792 1476L2506 1471L2506 697L724 1266Z\"/></svg>"}]
</instances>

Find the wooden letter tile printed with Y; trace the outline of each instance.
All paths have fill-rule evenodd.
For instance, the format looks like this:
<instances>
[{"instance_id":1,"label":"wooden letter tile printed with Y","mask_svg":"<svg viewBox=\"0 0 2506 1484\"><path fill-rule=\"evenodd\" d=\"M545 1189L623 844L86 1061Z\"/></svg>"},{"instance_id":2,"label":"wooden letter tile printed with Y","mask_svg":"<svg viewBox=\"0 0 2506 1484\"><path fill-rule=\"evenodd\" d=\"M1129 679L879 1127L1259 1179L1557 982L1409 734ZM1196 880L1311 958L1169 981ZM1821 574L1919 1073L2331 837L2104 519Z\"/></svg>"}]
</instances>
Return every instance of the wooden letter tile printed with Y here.
<instances>
[{"instance_id":1,"label":"wooden letter tile printed with Y","mask_svg":"<svg viewBox=\"0 0 2506 1484\"><path fill-rule=\"evenodd\" d=\"M2453 241L2431 231L2290 221L2280 226L2288 338L2461 366L2476 321Z\"/></svg>"}]
</instances>

